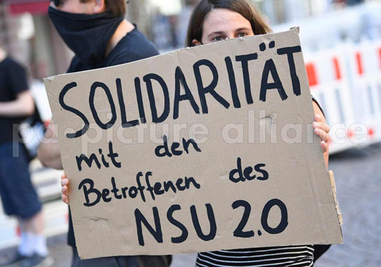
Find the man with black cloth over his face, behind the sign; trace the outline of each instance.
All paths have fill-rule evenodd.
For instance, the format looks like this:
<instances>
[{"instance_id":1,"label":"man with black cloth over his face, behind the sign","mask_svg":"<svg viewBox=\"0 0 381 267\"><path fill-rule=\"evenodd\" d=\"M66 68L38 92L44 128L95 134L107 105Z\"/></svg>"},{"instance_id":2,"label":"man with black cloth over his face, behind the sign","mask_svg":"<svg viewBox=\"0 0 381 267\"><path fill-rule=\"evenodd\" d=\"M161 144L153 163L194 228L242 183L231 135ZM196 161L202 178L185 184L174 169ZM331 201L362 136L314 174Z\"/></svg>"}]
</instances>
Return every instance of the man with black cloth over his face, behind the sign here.
<instances>
[{"instance_id":1,"label":"man with black cloth over his face, behind the sign","mask_svg":"<svg viewBox=\"0 0 381 267\"><path fill-rule=\"evenodd\" d=\"M136 25L124 18L125 0L54 0L48 15L67 46L75 53L68 73L132 62L158 55ZM43 142L38 157L45 166L62 169L56 133ZM50 132L50 131L48 131ZM48 144L47 144L48 143ZM66 200L68 203L68 201ZM72 266L169 266L171 256L120 256L80 260L69 213L68 244Z\"/></svg>"}]
</instances>

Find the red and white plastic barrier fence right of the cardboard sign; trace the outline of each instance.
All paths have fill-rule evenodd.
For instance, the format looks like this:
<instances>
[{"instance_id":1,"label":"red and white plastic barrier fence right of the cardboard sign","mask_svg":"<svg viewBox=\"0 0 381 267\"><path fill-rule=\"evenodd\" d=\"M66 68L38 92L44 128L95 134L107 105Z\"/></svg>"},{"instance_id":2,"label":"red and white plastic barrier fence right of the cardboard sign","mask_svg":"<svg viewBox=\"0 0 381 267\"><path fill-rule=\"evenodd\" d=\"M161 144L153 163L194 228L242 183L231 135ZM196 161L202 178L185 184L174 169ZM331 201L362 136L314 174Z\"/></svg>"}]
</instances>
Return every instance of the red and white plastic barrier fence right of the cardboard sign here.
<instances>
[{"instance_id":1,"label":"red and white plastic barrier fence right of the cardboard sign","mask_svg":"<svg viewBox=\"0 0 381 267\"><path fill-rule=\"evenodd\" d=\"M330 153L381 141L381 40L341 43L304 59L331 126Z\"/></svg>"}]
</instances>

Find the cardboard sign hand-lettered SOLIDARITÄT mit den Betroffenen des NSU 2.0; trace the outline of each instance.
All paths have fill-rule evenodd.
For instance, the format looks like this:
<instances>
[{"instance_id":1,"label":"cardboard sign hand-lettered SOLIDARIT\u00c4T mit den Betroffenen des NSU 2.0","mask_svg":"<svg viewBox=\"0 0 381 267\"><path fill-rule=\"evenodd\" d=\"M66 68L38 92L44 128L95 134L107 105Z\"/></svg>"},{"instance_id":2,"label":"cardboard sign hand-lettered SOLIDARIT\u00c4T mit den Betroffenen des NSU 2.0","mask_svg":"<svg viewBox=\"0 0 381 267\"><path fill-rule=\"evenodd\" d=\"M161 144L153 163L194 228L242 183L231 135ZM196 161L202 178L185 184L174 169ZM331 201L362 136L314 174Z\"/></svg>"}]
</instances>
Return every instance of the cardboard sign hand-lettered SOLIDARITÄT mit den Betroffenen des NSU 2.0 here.
<instances>
[{"instance_id":1,"label":"cardboard sign hand-lettered SOLIDARIT\u00c4T mit den Betroffenen des NSU 2.0","mask_svg":"<svg viewBox=\"0 0 381 267\"><path fill-rule=\"evenodd\" d=\"M298 29L45 86L83 259L342 242Z\"/></svg>"}]
</instances>

